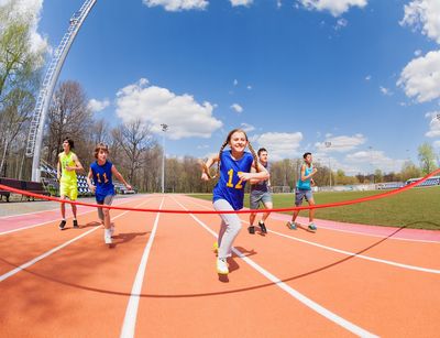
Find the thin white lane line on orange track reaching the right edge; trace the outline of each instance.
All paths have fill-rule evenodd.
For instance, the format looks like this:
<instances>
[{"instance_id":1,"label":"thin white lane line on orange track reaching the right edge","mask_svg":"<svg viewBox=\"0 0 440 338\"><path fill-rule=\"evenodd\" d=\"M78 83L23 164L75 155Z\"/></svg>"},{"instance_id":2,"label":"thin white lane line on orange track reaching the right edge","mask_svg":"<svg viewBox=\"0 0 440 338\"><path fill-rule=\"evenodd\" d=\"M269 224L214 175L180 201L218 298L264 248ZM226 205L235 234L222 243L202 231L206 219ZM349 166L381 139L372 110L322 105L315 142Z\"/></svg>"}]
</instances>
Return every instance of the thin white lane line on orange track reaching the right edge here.
<instances>
[{"instance_id":1,"label":"thin white lane line on orange track reaching the right edge","mask_svg":"<svg viewBox=\"0 0 440 338\"><path fill-rule=\"evenodd\" d=\"M198 203L194 203L194 204L199 205L199 206L201 206L201 207L204 207L206 209L210 209L210 208L208 208L208 207L206 207L206 206L204 206L201 204L198 204ZM243 219L241 219L241 221L245 222L245 223L249 223L249 221L243 220ZM408 270L415 270L415 271L440 274L440 270L437 270L437 269L421 268L421 266L417 266L417 265L409 265L409 264L398 263L398 262L394 262L394 261L376 259L376 258L373 258L373 257L370 257L370 255L365 255L365 254L359 254L359 253L355 253L355 252L350 252L350 251L345 251L345 250L340 250L340 249L327 247L327 246L323 246L323 244L319 244L317 242L311 242L311 241L308 241L308 240L305 240L305 239L300 239L300 238L296 238L296 237L293 237L293 236L284 235L284 233L280 233L280 232L277 232L277 231L274 231L274 230L267 229L267 231L272 232L272 233L275 233L275 235L278 235L280 237L285 237L285 238L292 239L294 241L298 241L298 242L301 242L301 243L306 243L306 244L309 244L309 246L318 247L318 248L326 249L326 250L329 250L329 251L342 253L342 254L345 254L345 255L349 255L349 257L354 257L354 258L359 258L359 259L363 259L363 260L367 260L367 261L373 261L373 262L376 262L376 263L388 264L388 265L398 266L398 268L408 269Z\"/></svg>"}]
</instances>

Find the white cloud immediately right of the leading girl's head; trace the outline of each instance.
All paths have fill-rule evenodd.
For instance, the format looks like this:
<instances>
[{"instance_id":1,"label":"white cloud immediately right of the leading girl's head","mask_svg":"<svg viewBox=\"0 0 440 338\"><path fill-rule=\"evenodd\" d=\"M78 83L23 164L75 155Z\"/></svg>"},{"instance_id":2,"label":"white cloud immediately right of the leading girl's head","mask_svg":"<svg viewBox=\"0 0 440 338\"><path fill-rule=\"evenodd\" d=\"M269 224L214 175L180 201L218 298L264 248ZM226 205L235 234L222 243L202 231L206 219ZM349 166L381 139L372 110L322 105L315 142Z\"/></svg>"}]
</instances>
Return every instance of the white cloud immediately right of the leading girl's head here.
<instances>
[{"instance_id":1,"label":"white cloud immediately right of the leading girl's head","mask_svg":"<svg viewBox=\"0 0 440 338\"><path fill-rule=\"evenodd\" d=\"M266 132L252 139L253 142L258 144L258 148L267 149L272 161L292 159L298 155L301 140L301 132Z\"/></svg>"}]
</instances>

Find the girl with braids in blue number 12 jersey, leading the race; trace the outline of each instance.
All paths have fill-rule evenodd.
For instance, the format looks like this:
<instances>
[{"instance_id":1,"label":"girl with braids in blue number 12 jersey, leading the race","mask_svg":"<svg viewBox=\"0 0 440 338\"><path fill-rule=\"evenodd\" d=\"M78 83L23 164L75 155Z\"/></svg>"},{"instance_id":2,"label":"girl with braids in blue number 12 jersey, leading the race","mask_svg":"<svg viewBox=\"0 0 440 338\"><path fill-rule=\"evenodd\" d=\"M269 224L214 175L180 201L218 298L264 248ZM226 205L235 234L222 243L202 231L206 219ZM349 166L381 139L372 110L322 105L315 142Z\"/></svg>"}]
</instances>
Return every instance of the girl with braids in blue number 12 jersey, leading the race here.
<instances>
[{"instance_id":1,"label":"girl with braids in blue number 12 jersey, leading the race","mask_svg":"<svg viewBox=\"0 0 440 338\"><path fill-rule=\"evenodd\" d=\"M230 150L224 150L229 145ZM246 152L246 146L251 153ZM262 166L255 151L248 141L246 133L234 129L221 145L219 154L209 159L202 166L201 179L208 181L209 167L218 162L219 182L213 188L213 208L222 210L240 210L243 208L244 186L249 179L267 179L268 172ZM251 173L251 168L256 173ZM217 176L217 175L216 175ZM227 259L232 255L232 243L241 229L241 220L237 214L220 214L221 227L218 237L217 272L228 274Z\"/></svg>"}]
</instances>

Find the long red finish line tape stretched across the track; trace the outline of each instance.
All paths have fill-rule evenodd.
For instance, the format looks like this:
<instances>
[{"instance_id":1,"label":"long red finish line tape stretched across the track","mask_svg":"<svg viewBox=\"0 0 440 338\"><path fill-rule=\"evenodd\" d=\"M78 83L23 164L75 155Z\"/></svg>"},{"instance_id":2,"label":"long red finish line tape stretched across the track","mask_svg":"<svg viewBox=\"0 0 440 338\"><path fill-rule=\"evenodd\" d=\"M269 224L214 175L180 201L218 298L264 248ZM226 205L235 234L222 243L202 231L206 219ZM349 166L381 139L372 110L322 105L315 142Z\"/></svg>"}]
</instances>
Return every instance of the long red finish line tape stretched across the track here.
<instances>
[{"instance_id":1,"label":"long red finish line tape stretched across the track","mask_svg":"<svg viewBox=\"0 0 440 338\"><path fill-rule=\"evenodd\" d=\"M142 211L142 212L162 212L162 214L256 214L256 212L283 212L283 211L294 211L294 210L307 210L307 209L322 209L322 208L332 208L332 207L341 207L341 206L348 206L348 205L353 205L353 204L359 204L359 203L364 203L369 200L375 200L375 199L381 199L385 197L389 197L392 195L397 195L403 192L409 190L414 186L424 183L427 181L429 177L439 174L440 168L437 171L433 171L432 173L426 175L425 177L420 178L419 181L416 181L411 184L408 184L407 186L404 186L402 188L395 189L395 190L389 190L385 192L383 194L377 194L374 196L367 196L367 197L361 197L356 199L350 199L350 200L342 200L342 201L337 201L337 203L328 203L328 204L321 204L321 205L315 205L315 206L304 206L304 207L290 207L290 208L277 208L277 209L246 209L246 210L223 210L223 211L216 211L216 210L174 210L174 209L147 209L147 208L130 208L130 207L118 207L118 206L106 206L106 205L98 205L98 204L91 204L91 203L82 203L82 201L74 201L74 200L68 200L68 199L61 199L58 197L51 197L51 196L43 196L38 194L33 194L30 192L21 190L21 189L15 189L7 185L0 184L0 189L8 190L11 193L15 194L21 194L24 196L30 196L30 197L36 197L41 199L46 199L46 200L53 200L53 201L58 201L58 203L67 203L72 205L78 205L78 206L85 206L85 207L94 207L94 208L103 208L103 209L114 209L114 210L125 210L125 211Z\"/></svg>"}]
</instances>

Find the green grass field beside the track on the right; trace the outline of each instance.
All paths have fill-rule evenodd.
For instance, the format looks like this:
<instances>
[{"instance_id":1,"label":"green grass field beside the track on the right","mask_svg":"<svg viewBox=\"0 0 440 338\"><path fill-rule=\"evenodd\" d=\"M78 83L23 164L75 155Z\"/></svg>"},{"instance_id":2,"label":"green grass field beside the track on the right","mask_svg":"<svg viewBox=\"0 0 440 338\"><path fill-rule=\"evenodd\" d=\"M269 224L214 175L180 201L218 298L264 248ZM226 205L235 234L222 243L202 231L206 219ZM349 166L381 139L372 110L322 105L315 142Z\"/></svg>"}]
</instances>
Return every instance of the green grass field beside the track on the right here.
<instances>
[{"instance_id":1,"label":"green grass field beside the track on the right","mask_svg":"<svg viewBox=\"0 0 440 338\"><path fill-rule=\"evenodd\" d=\"M315 193L314 196L317 204L327 204L381 193L383 192ZM212 199L210 194L189 196ZM273 200L274 208L293 207L294 194L274 194ZM244 206L249 207L249 195L244 197ZM299 215L307 216L308 211L302 210ZM391 197L351 206L317 209L315 218L374 226L440 230L440 186L413 188Z\"/></svg>"}]
</instances>

